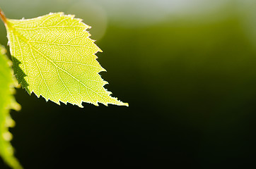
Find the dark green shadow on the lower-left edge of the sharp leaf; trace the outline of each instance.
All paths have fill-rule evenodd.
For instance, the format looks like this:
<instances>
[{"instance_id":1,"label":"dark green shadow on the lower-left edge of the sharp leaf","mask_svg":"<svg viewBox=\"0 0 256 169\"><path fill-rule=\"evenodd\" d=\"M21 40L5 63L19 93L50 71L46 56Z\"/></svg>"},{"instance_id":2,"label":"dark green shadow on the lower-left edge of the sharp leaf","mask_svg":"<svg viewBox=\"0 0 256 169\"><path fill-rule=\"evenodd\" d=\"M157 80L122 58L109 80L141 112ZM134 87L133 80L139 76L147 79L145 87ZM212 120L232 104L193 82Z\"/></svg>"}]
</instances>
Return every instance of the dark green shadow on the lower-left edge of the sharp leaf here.
<instances>
[{"instance_id":1,"label":"dark green shadow on the lower-left edge of the sharp leaf","mask_svg":"<svg viewBox=\"0 0 256 169\"><path fill-rule=\"evenodd\" d=\"M30 90L28 89L28 82L25 80L25 75L24 71L21 69L21 61L19 61L16 57L12 56L12 61L13 61L13 73L16 75L16 78L18 80L18 84L21 84L21 86L30 94Z\"/></svg>"}]
</instances>

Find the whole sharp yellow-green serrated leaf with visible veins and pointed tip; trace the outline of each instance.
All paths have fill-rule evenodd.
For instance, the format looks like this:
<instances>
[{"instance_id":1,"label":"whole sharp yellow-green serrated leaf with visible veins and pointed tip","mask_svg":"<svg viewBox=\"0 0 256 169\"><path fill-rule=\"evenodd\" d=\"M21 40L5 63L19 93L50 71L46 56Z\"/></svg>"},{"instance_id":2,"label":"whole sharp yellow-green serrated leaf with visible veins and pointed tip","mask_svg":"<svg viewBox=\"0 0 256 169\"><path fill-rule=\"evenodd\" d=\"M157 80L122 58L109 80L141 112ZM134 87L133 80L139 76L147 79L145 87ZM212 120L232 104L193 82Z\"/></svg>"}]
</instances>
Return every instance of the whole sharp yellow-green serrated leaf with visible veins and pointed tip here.
<instances>
[{"instance_id":1,"label":"whole sharp yellow-green serrated leaf with visible veins and pointed tip","mask_svg":"<svg viewBox=\"0 0 256 169\"><path fill-rule=\"evenodd\" d=\"M95 54L101 51L74 15L50 13L27 20L7 19L6 29L18 82L38 97L59 104L82 102L128 106L110 96L98 73Z\"/></svg>"}]
</instances>

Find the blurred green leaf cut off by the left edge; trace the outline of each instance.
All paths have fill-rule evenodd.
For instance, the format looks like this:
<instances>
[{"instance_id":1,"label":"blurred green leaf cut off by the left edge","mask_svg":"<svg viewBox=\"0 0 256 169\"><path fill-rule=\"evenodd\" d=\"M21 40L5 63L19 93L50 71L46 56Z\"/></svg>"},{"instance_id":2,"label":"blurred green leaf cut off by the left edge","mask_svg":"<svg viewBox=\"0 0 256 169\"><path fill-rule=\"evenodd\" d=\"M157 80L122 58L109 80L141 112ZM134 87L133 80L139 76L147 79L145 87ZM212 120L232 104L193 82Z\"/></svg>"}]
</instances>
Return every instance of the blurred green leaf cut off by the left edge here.
<instances>
[{"instance_id":1,"label":"blurred green leaf cut off by the left edge","mask_svg":"<svg viewBox=\"0 0 256 169\"><path fill-rule=\"evenodd\" d=\"M14 169L21 169L20 163L13 156L13 147L11 146L12 135L8 132L8 127L15 125L11 119L10 109L18 110L21 108L16 103L13 92L15 84L13 71L10 68L11 61L5 55L6 50L0 46L0 156L4 161Z\"/></svg>"}]
</instances>

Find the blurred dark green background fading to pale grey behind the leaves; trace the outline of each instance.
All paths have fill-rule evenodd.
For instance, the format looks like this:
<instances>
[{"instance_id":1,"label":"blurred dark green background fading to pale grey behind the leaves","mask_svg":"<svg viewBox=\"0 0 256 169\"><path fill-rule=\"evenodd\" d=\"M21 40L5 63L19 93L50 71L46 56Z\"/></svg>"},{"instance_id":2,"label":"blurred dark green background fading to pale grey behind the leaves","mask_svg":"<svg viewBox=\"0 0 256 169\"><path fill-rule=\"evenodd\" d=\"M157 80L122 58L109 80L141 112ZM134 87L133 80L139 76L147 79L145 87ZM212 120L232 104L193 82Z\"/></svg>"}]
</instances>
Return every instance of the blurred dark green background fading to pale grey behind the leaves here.
<instances>
[{"instance_id":1,"label":"blurred dark green background fading to pale grey behind the leaves","mask_svg":"<svg viewBox=\"0 0 256 169\"><path fill-rule=\"evenodd\" d=\"M5 0L8 18L91 25L100 73L129 107L58 106L17 89L12 144L29 168L243 168L256 157L255 0ZM0 23L0 44L7 46ZM0 168L8 168L0 159Z\"/></svg>"}]
</instances>

